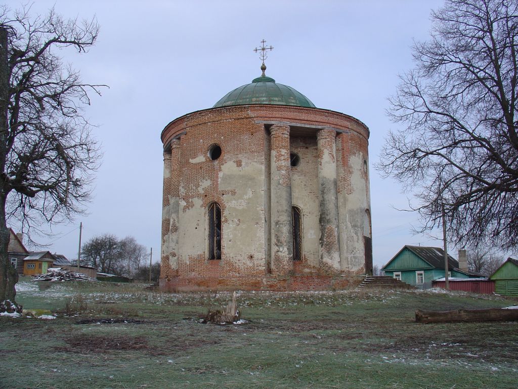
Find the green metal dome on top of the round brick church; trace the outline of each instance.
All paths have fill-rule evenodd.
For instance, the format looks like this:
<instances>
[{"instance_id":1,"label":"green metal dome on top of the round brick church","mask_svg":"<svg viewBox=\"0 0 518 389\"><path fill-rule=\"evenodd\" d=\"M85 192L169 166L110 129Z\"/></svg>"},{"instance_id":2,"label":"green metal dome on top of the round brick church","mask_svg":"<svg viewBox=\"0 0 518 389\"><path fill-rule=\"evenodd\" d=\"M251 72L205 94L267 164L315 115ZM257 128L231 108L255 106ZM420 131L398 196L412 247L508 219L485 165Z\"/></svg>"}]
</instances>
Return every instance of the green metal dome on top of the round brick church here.
<instances>
[{"instance_id":1,"label":"green metal dome on top of the round brick church","mask_svg":"<svg viewBox=\"0 0 518 389\"><path fill-rule=\"evenodd\" d=\"M254 78L251 84L243 85L228 92L214 104L213 108L244 104L295 105L315 108L315 105L302 93L287 85L277 84L271 77L264 75Z\"/></svg>"}]
</instances>

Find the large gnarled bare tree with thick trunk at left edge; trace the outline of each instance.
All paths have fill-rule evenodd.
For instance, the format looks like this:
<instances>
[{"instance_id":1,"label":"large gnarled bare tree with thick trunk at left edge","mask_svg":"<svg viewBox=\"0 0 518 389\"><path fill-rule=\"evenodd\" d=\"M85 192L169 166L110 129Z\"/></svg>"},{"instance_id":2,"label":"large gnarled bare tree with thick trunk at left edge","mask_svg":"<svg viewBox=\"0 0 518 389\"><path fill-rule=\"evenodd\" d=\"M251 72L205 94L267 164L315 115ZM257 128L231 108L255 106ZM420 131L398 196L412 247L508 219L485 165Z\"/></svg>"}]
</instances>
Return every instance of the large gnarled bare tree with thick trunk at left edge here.
<instances>
[{"instance_id":1,"label":"large gnarled bare tree with thick trunk at left edge","mask_svg":"<svg viewBox=\"0 0 518 389\"><path fill-rule=\"evenodd\" d=\"M89 92L58 49L85 52L95 19L64 20L54 10L30 18L0 6L0 301L14 301L16 272L7 258L7 222L28 234L82 212L99 149L82 114Z\"/></svg>"}]
</instances>

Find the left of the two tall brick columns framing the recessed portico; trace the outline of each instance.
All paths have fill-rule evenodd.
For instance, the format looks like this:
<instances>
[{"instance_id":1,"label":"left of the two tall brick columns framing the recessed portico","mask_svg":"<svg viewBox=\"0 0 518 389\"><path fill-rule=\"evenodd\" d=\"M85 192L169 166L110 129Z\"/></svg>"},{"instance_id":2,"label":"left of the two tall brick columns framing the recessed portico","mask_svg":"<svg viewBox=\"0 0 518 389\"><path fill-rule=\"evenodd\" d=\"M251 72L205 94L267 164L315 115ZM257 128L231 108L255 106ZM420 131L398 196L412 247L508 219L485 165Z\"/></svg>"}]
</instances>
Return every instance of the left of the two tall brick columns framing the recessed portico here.
<instances>
[{"instance_id":1,"label":"left of the two tall brick columns framing the recessed portico","mask_svg":"<svg viewBox=\"0 0 518 389\"><path fill-rule=\"evenodd\" d=\"M270 128L271 272L293 272L290 126Z\"/></svg>"}]
</instances>

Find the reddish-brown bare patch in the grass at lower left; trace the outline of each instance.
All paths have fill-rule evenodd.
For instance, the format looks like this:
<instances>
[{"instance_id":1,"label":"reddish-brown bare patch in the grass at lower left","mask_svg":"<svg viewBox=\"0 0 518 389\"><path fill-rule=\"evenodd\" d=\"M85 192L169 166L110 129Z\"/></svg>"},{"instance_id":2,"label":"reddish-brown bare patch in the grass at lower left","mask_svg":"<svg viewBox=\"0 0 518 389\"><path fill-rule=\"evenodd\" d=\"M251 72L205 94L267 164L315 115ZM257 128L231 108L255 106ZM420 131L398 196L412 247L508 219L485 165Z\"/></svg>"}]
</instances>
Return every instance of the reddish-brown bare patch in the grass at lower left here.
<instances>
[{"instance_id":1,"label":"reddish-brown bare patch in the grass at lower left","mask_svg":"<svg viewBox=\"0 0 518 389\"><path fill-rule=\"evenodd\" d=\"M55 350L72 353L105 353L114 350L148 350L148 342L143 337L77 335L65 339L67 346Z\"/></svg>"}]
</instances>

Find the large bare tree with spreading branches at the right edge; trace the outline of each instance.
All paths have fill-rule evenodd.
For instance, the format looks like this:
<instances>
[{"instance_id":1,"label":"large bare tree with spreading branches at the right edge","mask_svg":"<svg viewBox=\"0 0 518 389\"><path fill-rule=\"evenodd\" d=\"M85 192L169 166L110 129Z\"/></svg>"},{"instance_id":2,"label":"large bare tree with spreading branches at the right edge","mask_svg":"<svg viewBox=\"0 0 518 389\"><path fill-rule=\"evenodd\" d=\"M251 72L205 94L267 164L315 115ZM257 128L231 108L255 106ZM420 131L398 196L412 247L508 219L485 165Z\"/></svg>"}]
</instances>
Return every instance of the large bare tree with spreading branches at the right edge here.
<instances>
[{"instance_id":1,"label":"large bare tree with spreading branches at the right edge","mask_svg":"<svg viewBox=\"0 0 518 389\"><path fill-rule=\"evenodd\" d=\"M518 0L447 0L401 76L378 164L413 192L423 231L460 246L518 247Z\"/></svg>"}]
</instances>

